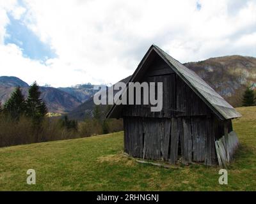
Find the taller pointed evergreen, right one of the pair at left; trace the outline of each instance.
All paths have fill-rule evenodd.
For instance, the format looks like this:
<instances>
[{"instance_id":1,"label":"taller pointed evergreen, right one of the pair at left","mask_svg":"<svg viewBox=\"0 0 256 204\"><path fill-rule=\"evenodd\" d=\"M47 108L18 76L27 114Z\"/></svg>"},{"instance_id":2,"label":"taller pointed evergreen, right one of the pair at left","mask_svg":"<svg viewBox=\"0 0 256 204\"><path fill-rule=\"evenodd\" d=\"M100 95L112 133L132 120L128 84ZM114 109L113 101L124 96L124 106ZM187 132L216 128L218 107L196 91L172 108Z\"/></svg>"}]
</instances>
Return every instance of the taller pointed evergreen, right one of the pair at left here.
<instances>
[{"instance_id":1,"label":"taller pointed evergreen, right one of the pair at left","mask_svg":"<svg viewBox=\"0 0 256 204\"><path fill-rule=\"evenodd\" d=\"M34 82L28 91L28 99L26 100L26 115L31 117L34 122L40 123L44 119L47 108L44 101L40 98L41 92Z\"/></svg>"}]
</instances>

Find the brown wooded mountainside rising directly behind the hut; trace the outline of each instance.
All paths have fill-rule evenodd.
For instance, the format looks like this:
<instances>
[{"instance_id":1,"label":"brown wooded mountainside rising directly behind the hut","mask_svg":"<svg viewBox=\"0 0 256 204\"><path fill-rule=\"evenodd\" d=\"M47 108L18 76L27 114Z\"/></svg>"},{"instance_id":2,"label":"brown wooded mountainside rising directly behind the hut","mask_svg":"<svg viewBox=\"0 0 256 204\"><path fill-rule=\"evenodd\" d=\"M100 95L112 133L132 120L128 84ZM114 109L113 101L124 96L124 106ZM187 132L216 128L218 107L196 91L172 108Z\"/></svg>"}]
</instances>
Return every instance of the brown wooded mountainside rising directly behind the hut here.
<instances>
[{"instance_id":1,"label":"brown wooded mountainside rising directly behind the hut","mask_svg":"<svg viewBox=\"0 0 256 204\"><path fill-rule=\"evenodd\" d=\"M256 85L255 57L240 55L214 57L184 65L195 71L234 107L241 106L241 97L246 86ZM128 78L121 81L127 82ZM92 115L93 107L93 98L91 98L77 106L68 115L72 119L83 120L86 114Z\"/></svg>"}]
</instances>

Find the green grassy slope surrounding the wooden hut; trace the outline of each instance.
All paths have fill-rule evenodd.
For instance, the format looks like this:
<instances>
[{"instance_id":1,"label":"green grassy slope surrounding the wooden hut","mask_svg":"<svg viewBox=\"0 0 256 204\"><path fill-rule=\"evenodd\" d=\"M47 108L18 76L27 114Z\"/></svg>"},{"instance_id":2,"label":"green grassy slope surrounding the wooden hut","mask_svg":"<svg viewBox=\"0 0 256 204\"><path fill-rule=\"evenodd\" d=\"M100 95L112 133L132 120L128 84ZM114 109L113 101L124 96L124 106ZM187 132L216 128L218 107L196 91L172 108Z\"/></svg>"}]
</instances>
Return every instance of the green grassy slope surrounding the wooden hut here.
<instances>
[{"instance_id":1,"label":"green grassy slope surrounding the wooden hut","mask_svg":"<svg viewBox=\"0 0 256 204\"><path fill-rule=\"evenodd\" d=\"M232 191L256 190L256 107L237 108L234 120L241 148L218 184L218 168L193 164L165 169L122 155L123 133L0 149L0 190L36 191ZM36 170L36 185L26 171Z\"/></svg>"}]
</instances>

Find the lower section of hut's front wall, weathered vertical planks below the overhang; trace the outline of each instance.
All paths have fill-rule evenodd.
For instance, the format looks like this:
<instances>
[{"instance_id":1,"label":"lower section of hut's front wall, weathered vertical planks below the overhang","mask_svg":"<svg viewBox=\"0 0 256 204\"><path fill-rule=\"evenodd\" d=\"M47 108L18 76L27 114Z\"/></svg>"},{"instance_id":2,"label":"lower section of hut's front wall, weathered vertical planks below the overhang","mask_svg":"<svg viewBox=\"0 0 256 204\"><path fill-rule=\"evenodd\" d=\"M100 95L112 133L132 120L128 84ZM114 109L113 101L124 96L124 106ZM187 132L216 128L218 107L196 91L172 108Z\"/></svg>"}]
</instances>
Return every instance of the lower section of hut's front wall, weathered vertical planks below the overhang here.
<instances>
[{"instance_id":1,"label":"lower section of hut's front wall, weathered vertical planks below the overhang","mask_svg":"<svg viewBox=\"0 0 256 204\"><path fill-rule=\"evenodd\" d=\"M216 121L207 117L124 117L125 152L133 157L176 163L180 146L184 163L217 162Z\"/></svg>"}]
</instances>

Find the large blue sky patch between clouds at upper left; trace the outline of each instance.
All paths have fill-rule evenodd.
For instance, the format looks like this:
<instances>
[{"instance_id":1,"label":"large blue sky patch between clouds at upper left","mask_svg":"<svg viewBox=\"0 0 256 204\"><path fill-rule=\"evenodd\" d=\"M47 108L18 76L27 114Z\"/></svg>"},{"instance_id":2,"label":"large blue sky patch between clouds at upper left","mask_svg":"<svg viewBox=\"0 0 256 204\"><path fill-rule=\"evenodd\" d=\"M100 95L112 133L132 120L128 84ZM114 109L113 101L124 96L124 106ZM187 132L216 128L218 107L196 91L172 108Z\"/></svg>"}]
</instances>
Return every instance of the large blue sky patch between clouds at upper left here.
<instances>
[{"instance_id":1,"label":"large blue sky patch between clouds at upper left","mask_svg":"<svg viewBox=\"0 0 256 204\"><path fill-rule=\"evenodd\" d=\"M22 48L24 57L45 62L49 58L57 57L50 45L40 41L33 31L31 31L22 20L15 20L12 15L8 15L10 24L6 27L8 36L4 39L4 44L13 43Z\"/></svg>"}]
</instances>

